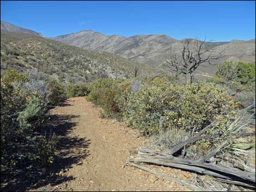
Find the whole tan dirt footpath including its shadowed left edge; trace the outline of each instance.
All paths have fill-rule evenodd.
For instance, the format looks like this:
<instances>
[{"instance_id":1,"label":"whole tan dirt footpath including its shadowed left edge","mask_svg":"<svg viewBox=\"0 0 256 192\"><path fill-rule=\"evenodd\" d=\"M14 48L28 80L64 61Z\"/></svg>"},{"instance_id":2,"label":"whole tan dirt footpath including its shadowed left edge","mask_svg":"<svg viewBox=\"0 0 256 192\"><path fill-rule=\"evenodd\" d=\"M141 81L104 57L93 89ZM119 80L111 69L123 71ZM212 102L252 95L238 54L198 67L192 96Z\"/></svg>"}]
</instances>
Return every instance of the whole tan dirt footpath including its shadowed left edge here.
<instances>
[{"instance_id":1,"label":"whole tan dirt footpath including its shadowed left edge","mask_svg":"<svg viewBox=\"0 0 256 192\"><path fill-rule=\"evenodd\" d=\"M191 191L124 166L130 148L145 146L147 141L124 123L101 119L99 112L84 97L69 98L51 109L50 119L56 121L51 130L60 135L57 158L54 165L41 170L45 177L35 180L27 191ZM196 176L179 169L143 166L183 181Z\"/></svg>"}]
</instances>

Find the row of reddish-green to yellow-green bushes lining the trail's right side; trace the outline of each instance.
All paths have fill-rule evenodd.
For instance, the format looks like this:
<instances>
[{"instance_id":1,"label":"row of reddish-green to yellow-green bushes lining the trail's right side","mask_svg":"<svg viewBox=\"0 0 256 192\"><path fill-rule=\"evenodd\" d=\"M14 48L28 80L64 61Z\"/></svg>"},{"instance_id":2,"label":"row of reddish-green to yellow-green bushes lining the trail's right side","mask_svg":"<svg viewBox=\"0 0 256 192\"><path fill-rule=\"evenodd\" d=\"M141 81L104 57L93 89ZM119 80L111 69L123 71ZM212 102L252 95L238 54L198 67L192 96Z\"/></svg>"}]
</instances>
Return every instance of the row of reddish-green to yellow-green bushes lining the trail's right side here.
<instances>
[{"instance_id":1,"label":"row of reddish-green to yellow-green bushes lining the trail's right side","mask_svg":"<svg viewBox=\"0 0 256 192\"><path fill-rule=\"evenodd\" d=\"M224 132L239 104L213 83L184 86L167 78L117 81L100 79L90 85L88 101L102 107L102 117L120 117L132 128L159 133L170 128L200 131L217 120L210 132Z\"/></svg>"}]
</instances>

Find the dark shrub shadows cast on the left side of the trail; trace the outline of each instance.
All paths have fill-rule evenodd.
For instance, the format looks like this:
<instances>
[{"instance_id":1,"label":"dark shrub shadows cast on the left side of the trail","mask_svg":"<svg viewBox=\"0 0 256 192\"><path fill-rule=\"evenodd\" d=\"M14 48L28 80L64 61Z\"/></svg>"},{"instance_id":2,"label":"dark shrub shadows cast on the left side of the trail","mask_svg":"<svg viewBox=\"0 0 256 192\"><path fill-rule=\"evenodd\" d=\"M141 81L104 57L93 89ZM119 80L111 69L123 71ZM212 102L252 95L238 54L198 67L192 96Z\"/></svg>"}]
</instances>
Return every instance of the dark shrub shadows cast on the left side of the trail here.
<instances>
[{"instance_id":1,"label":"dark shrub shadows cast on the left side of the trail","mask_svg":"<svg viewBox=\"0 0 256 192\"><path fill-rule=\"evenodd\" d=\"M47 124L41 133L55 133L59 139L56 145L56 157L51 166L34 168L27 171L22 168L15 177L1 175L1 191L25 191L44 187L44 191L53 191L56 185L75 179L68 176L68 170L89 155L90 140L86 138L70 137L68 134L77 122L76 115L48 115Z\"/></svg>"}]
</instances>

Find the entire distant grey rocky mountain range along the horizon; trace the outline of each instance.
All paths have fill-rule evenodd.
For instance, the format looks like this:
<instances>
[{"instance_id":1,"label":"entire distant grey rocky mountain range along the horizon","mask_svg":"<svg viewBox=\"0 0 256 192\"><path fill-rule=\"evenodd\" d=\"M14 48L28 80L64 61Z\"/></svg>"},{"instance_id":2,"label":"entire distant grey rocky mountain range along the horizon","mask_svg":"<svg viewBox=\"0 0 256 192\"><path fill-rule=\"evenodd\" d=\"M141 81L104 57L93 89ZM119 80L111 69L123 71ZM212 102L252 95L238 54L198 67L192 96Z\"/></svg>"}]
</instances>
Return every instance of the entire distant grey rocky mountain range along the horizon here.
<instances>
[{"instance_id":1,"label":"entire distant grey rocky mountain range along the horizon","mask_svg":"<svg viewBox=\"0 0 256 192\"><path fill-rule=\"evenodd\" d=\"M33 30L17 27L3 21L1 21L1 30L30 33L44 37ZM82 30L78 33L60 35L48 39L92 51L113 53L133 63L154 67L154 69L162 67L162 63L168 58L170 47L175 47L175 51L180 52L185 40L177 40L164 34L135 35L126 38L119 35L105 35L93 30ZM214 64L222 63L224 60L255 63L255 39L248 41L205 42L205 45L205 48L212 52L224 51L224 57L221 60L216 60ZM215 71L216 66L214 65L208 65L207 67L205 65L198 69L199 73L211 74Z\"/></svg>"}]
</instances>

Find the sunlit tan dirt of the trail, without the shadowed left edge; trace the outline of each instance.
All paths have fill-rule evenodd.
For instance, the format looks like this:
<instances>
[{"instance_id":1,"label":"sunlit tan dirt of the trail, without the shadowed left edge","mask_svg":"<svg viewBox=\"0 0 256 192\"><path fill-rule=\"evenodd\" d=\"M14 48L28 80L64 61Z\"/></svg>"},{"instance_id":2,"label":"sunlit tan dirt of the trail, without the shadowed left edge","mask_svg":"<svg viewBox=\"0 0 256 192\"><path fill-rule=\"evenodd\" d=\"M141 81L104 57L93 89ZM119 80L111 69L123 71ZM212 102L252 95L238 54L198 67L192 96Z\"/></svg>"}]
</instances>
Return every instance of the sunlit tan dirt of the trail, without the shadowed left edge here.
<instances>
[{"instance_id":1,"label":"sunlit tan dirt of the trail, without the shadowed left edge","mask_svg":"<svg viewBox=\"0 0 256 192\"><path fill-rule=\"evenodd\" d=\"M56 175L72 179L48 187L55 191L190 191L172 181L124 166L130 148L145 145L145 139L137 138L135 132L120 122L101 119L99 110L83 97L69 98L62 106L52 109L53 115L72 116L70 123L76 123L66 137L77 141L86 138L87 144L63 147L59 151L62 159L82 158L79 162L62 162L63 171ZM174 174L181 171L173 169L171 175ZM186 177L185 172L182 174ZM44 186L37 190L47 189Z\"/></svg>"}]
</instances>

